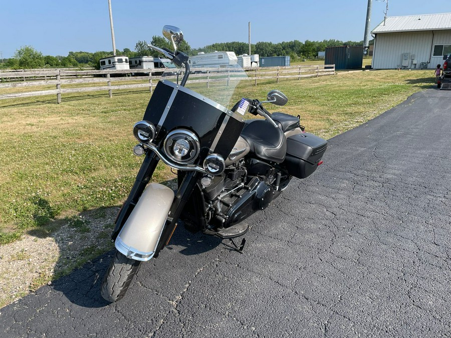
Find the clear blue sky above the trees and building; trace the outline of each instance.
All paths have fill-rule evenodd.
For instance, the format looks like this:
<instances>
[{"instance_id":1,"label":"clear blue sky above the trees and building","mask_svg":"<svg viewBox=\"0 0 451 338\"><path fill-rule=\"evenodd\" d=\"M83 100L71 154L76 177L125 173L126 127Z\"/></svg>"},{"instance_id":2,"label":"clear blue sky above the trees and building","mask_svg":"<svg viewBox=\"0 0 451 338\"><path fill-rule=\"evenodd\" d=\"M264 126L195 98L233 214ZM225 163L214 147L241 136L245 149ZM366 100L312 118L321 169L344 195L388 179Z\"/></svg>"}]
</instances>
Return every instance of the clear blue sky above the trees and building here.
<instances>
[{"instance_id":1,"label":"clear blue sky above the trees and building","mask_svg":"<svg viewBox=\"0 0 451 338\"><path fill-rule=\"evenodd\" d=\"M116 48L134 50L164 25L180 27L192 48L215 42L361 41L367 0L208 1L111 0ZM444 1L389 0L388 16L442 13ZM433 10L432 8L436 9ZM385 3L373 0L371 29ZM0 0L0 52L10 58L22 46L44 55L112 51L108 0Z\"/></svg>"}]
</instances>

